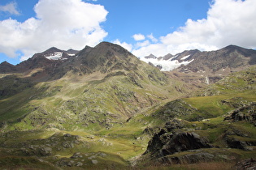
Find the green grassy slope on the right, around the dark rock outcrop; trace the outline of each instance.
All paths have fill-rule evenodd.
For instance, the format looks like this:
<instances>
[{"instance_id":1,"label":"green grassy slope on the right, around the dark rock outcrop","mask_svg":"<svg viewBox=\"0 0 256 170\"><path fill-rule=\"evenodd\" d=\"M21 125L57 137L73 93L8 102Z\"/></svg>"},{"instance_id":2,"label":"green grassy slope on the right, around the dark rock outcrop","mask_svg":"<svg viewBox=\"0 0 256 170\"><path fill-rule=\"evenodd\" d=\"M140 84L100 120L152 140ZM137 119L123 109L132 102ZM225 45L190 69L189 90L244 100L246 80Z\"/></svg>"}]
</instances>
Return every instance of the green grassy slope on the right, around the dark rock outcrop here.
<instances>
[{"instance_id":1,"label":"green grassy slope on the right, around the dark rock outcrop","mask_svg":"<svg viewBox=\"0 0 256 170\"><path fill-rule=\"evenodd\" d=\"M181 131L199 134L207 138L210 144L219 148L201 149L199 152L215 155L215 161L223 161L224 159L227 164L221 166L227 165L230 169L232 169L230 164L236 164L241 159L254 158L256 156L254 124L247 121L224 121L224 118L236 108L256 102L255 73L256 67L254 66L249 70L231 74L231 76L211 85L206 90L199 91L197 93L199 95L196 97L168 102L147 115L148 120L154 120L151 122L158 122L150 126L153 127L152 129L155 132L158 132L156 127L161 124L164 125L165 122L171 121L173 118L185 120L185 126ZM255 112L255 110L250 112ZM143 119L145 120L145 117ZM226 142L227 138L234 138L235 141L251 144L248 144L249 146L245 150L229 148ZM195 153L199 152L196 151ZM184 151L167 157L176 159L191 154L193 152ZM139 162L140 164L142 164L141 166L143 164L144 166L145 164L154 166L158 162L145 157ZM192 167L184 165L180 168Z\"/></svg>"}]
</instances>

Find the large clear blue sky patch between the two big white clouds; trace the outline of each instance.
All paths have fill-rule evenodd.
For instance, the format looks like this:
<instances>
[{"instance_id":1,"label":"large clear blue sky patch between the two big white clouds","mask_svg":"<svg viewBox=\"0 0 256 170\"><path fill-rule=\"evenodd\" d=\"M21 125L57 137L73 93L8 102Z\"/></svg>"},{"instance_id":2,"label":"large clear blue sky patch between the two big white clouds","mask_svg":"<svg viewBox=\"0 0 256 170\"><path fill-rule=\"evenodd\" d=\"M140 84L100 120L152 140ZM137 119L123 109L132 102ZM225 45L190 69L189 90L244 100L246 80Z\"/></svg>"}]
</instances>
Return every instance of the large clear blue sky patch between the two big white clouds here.
<instances>
[{"instance_id":1,"label":"large clear blue sky patch between the two big white clouds","mask_svg":"<svg viewBox=\"0 0 256 170\"><path fill-rule=\"evenodd\" d=\"M209 8L207 0L98 0L109 14L102 24L109 32L106 40L124 40L131 42L132 35L141 33L165 36L184 25L187 19L206 17Z\"/></svg>"}]
</instances>

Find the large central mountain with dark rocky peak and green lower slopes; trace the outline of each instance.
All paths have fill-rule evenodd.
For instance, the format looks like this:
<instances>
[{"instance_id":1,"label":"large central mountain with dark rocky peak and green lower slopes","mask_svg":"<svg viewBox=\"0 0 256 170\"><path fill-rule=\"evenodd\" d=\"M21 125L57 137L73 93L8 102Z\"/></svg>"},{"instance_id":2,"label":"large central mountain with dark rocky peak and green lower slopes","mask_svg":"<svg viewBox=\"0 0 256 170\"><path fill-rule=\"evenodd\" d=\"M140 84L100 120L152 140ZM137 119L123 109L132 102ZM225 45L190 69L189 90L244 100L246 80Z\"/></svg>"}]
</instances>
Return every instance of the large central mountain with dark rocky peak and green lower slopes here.
<instances>
[{"instance_id":1,"label":"large central mountain with dark rocky peak and green lower slopes","mask_svg":"<svg viewBox=\"0 0 256 170\"><path fill-rule=\"evenodd\" d=\"M171 83L166 74L119 45L102 42L65 60L47 58L56 51L37 53L17 65L27 70L0 79L1 98L10 99L2 100L0 120L19 122L21 130L68 130L70 123L82 129L111 128L142 109L187 93L183 83ZM24 100L16 102L20 96ZM15 107L4 107L9 102Z\"/></svg>"}]
</instances>

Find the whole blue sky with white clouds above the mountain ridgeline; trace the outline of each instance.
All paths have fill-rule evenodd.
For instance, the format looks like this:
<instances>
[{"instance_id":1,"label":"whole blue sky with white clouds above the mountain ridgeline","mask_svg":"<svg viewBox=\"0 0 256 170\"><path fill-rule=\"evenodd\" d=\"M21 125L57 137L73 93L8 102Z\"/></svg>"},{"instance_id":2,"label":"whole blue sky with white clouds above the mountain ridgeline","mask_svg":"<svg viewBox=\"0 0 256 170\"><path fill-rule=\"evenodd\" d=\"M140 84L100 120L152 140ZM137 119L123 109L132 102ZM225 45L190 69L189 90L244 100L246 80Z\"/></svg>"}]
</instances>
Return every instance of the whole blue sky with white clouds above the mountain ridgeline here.
<instances>
[{"instance_id":1,"label":"whole blue sky with white clouds above the mountain ridgeline","mask_svg":"<svg viewBox=\"0 0 256 170\"><path fill-rule=\"evenodd\" d=\"M256 49L255 0L0 0L0 63L101 41L137 57Z\"/></svg>"}]
</instances>

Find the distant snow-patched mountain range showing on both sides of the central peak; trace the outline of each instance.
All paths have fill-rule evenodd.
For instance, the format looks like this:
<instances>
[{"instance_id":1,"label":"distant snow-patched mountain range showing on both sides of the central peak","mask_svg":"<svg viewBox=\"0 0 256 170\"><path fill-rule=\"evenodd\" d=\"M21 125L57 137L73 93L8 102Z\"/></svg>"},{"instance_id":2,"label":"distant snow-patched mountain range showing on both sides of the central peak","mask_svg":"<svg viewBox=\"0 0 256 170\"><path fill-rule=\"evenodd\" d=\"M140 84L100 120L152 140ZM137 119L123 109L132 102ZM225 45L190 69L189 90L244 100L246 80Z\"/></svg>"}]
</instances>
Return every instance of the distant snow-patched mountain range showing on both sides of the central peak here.
<instances>
[{"instance_id":1,"label":"distant snow-patched mountain range showing on both sides of the central peak","mask_svg":"<svg viewBox=\"0 0 256 170\"><path fill-rule=\"evenodd\" d=\"M41 66L49 67L48 70L50 71L53 67L56 68L56 66L59 66L60 63L66 63L64 60L77 57L79 53L85 53L85 51L90 51L90 49L93 48L87 46L81 51L73 49L63 51L52 47L45 52L36 53L33 57L21 62L17 66L13 66L8 62L2 62L0 64L0 73L23 72ZM140 59L141 61L157 66L162 71L178 70L184 73L207 72L208 74L227 75L232 71L241 70L245 66L255 65L256 51L254 49L244 49L236 45L228 45L223 49L210 52L201 52L198 49L192 49L177 53L176 55L168 53L163 57L156 57L154 54L150 54Z\"/></svg>"}]
</instances>

